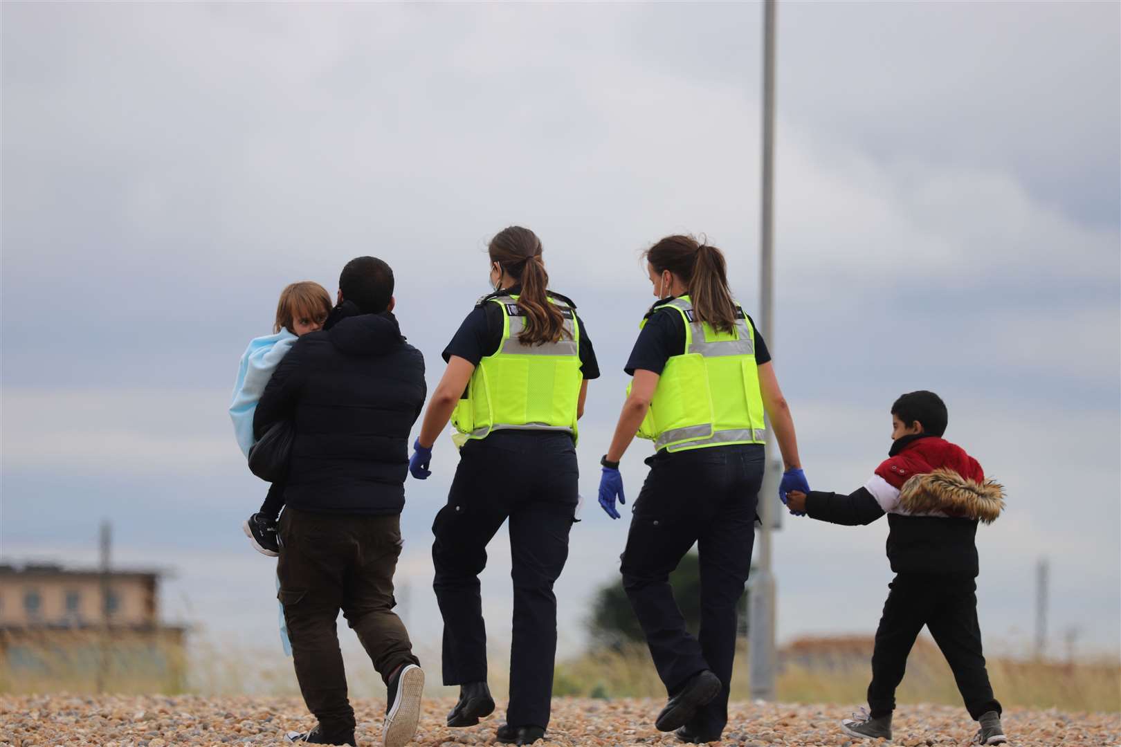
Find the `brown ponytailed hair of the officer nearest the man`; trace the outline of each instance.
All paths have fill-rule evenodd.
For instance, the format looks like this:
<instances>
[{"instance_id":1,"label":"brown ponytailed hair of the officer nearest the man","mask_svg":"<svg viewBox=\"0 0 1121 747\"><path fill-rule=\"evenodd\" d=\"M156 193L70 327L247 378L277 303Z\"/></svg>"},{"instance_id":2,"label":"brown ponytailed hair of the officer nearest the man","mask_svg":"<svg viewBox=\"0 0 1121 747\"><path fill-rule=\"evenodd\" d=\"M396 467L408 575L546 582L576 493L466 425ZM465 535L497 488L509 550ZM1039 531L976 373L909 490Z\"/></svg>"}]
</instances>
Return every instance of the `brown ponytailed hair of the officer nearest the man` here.
<instances>
[{"instance_id":1,"label":"brown ponytailed hair of the officer nearest the man","mask_svg":"<svg viewBox=\"0 0 1121 747\"><path fill-rule=\"evenodd\" d=\"M510 226L503 228L487 248L492 262L521 283L518 308L526 315L526 326L518 334L522 345L544 345L560 339L564 332L564 316L556 306L549 304L545 290L549 284L549 273L541 260L541 240L529 228Z\"/></svg>"}]
</instances>

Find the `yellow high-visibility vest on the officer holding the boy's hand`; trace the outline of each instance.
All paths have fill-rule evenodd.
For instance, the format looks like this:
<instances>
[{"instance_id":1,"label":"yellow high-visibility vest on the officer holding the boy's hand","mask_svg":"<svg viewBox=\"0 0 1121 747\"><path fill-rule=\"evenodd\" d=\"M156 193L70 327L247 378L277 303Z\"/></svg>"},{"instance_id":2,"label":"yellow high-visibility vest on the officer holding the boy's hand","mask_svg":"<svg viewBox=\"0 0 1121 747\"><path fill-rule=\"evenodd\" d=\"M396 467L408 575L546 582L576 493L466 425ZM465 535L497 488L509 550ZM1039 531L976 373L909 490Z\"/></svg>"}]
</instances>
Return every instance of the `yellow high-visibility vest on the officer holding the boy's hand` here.
<instances>
[{"instance_id":1,"label":"yellow high-visibility vest on the officer holding the boy's hand","mask_svg":"<svg viewBox=\"0 0 1121 747\"><path fill-rule=\"evenodd\" d=\"M658 308L667 306L685 323L685 349L666 362L638 437L670 451L762 443L766 424L754 329L743 309L735 305L735 327L723 333L695 320L688 296Z\"/></svg>"}]
</instances>

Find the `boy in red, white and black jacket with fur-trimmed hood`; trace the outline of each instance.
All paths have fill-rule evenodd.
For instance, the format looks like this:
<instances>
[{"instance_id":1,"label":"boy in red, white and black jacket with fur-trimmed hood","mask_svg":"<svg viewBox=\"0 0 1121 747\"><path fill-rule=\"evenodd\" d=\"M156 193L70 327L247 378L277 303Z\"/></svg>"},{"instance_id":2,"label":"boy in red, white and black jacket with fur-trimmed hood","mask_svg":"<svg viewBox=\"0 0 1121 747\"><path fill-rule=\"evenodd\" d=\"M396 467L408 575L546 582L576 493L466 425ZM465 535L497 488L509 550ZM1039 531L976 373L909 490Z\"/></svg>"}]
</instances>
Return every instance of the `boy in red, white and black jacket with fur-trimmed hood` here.
<instances>
[{"instance_id":1,"label":"boy in red, white and black jacket with fur-trimmed hood","mask_svg":"<svg viewBox=\"0 0 1121 747\"><path fill-rule=\"evenodd\" d=\"M872 652L869 711L845 719L853 737L891 739L896 688L907 655L926 625L946 656L970 716L980 722L979 745L1008 741L981 653L976 582L978 522L992 523L1004 507L1003 488L985 480L976 459L943 440L946 405L934 392L910 392L891 405L888 459L854 493L791 491L787 507L834 524L869 524L888 514L888 559L895 580L883 604Z\"/></svg>"}]
</instances>

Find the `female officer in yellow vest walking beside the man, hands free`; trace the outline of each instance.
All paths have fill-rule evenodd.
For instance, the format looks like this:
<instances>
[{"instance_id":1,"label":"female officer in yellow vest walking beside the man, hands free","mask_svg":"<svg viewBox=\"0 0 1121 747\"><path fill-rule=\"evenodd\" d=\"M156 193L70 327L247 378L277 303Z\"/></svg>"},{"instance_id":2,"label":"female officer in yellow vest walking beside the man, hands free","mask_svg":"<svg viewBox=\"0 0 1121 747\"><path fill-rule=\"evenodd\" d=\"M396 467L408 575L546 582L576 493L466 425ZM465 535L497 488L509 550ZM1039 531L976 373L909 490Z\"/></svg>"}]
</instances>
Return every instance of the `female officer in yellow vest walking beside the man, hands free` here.
<instances>
[{"instance_id":1,"label":"female officer in yellow vest walking beside the man, hands free","mask_svg":"<svg viewBox=\"0 0 1121 747\"><path fill-rule=\"evenodd\" d=\"M553 697L556 597L577 503L576 420L587 381L600 375L569 299L547 290L541 242L511 226L488 248L491 286L444 351L447 370L425 412L409 465L425 479L448 418L462 443L432 548L444 617L444 684L460 685L447 715L474 726L494 710L479 573L507 519L513 563L510 707L497 738L528 745L545 735Z\"/></svg>"}]
</instances>

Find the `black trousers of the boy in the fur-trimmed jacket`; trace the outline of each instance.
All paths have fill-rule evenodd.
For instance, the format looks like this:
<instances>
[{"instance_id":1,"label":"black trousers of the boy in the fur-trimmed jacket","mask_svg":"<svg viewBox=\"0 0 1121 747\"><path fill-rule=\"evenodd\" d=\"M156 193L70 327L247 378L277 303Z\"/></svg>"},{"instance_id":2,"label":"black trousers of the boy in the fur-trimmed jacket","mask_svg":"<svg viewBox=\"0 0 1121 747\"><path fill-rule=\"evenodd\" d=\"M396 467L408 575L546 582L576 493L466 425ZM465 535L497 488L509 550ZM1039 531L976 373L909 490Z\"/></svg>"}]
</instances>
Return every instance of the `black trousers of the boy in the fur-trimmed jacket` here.
<instances>
[{"instance_id":1,"label":"black trousers of the boy in the fur-trimmed jacket","mask_svg":"<svg viewBox=\"0 0 1121 747\"><path fill-rule=\"evenodd\" d=\"M872 683L868 685L872 718L895 710L896 688L904 679L907 655L924 625L949 663L970 716L978 720L988 711L1000 713L981 653L974 578L899 573L889 587L891 591L876 631Z\"/></svg>"}]
</instances>

